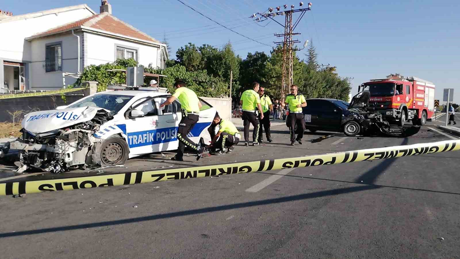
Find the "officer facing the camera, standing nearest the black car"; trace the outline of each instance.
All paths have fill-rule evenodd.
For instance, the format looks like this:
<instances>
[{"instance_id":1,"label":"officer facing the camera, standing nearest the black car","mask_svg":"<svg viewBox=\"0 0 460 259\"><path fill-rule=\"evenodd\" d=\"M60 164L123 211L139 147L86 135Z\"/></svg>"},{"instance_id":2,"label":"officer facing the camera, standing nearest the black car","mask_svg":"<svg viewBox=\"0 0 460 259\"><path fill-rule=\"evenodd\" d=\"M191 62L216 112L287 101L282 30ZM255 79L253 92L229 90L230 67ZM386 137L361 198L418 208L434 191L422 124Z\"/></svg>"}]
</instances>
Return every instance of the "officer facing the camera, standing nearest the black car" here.
<instances>
[{"instance_id":1,"label":"officer facing the camera, standing nearest the black car","mask_svg":"<svg viewBox=\"0 0 460 259\"><path fill-rule=\"evenodd\" d=\"M304 113L302 112L302 107L307 106L307 101L303 94L298 93L298 88L296 85L291 86L291 94L286 96L286 100L282 103L282 106L289 105L289 115L287 120L287 124L289 125L289 133L291 135L291 146L294 145L295 141L299 142L302 145L302 138L304 137L305 131L305 119ZM299 129L299 134L297 138L295 137L295 124L301 126L302 128Z\"/></svg>"}]
</instances>

